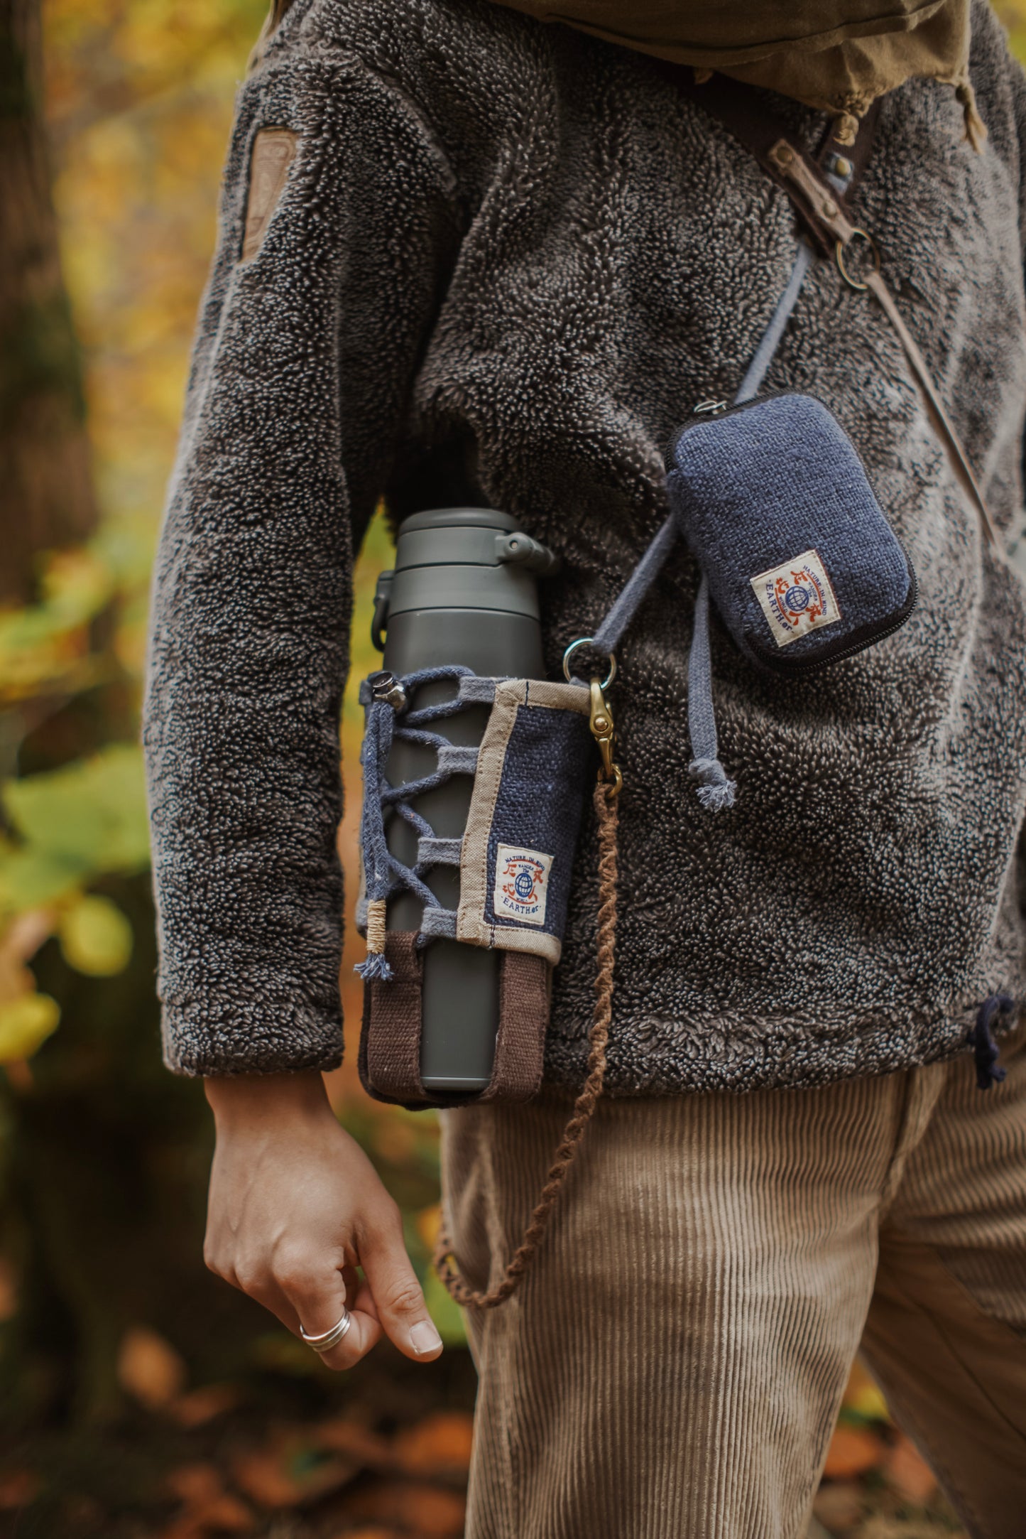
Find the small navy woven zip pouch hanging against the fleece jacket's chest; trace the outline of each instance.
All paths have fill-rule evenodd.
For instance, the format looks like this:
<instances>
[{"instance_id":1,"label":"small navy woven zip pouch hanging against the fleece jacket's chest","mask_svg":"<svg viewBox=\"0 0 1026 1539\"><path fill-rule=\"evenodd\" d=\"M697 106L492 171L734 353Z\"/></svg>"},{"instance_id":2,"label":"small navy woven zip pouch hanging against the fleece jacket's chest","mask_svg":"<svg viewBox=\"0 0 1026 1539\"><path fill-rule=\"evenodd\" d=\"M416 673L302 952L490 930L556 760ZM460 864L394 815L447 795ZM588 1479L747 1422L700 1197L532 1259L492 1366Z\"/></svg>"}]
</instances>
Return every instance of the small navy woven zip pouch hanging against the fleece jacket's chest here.
<instances>
[{"instance_id":1,"label":"small navy woven zip pouch hanging against the fleece jacket's chest","mask_svg":"<svg viewBox=\"0 0 1026 1539\"><path fill-rule=\"evenodd\" d=\"M912 563L858 452L811 396L697 416L668 454L669 500L741 651L811 673L904 625Z\"/></svg>"}]
</instances>

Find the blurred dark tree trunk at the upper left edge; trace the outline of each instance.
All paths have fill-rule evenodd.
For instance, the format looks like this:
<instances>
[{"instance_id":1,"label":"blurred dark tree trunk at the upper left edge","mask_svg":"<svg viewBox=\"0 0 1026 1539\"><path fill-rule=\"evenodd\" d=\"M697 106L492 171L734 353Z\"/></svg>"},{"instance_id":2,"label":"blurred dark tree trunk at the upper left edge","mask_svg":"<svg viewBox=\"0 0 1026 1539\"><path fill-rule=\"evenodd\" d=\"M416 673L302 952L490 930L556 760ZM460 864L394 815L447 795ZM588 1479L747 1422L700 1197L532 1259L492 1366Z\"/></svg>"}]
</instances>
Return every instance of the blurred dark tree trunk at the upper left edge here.
<instances>
[{"instance_id":1,"label":"blurred dark tree trunk at the upper left edge","mask_svg":"<svg viewBox=\"0 0 1026 1539\"><path fill-rule=\"evenodd\" d=\"M0 0L0 602L97 520L60 271L42 100L40 0Z\"/></svg>"}]
</instances>

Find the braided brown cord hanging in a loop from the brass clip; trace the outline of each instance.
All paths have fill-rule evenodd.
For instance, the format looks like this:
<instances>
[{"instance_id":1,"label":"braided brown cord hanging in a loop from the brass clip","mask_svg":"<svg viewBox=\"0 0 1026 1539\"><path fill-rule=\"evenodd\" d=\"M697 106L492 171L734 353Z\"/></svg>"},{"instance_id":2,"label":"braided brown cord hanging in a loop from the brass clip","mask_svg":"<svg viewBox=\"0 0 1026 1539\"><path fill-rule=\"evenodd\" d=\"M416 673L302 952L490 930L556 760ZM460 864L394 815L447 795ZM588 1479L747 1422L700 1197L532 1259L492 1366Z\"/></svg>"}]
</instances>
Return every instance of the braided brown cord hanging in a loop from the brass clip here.
<instances>
[{"instance_id":1,"label":"braided brown cord hanging in a loop from the brass clip","mask_svg":"<svg viewBox=\"0 0 1026 1539\"><path fill-rule=\"evenodd\" d=\"M609 780L600 780L595 786L595 813L598 814L598 973L595 977L595 1014L588 1037L588 1079L574 1102L574 1111L563 1130L560 1147L552 1157L545 1187L531 1214L531 1222L501 1280L488 1293L472 1288L461 1276L445 1224L438 1233L438 1244L434 1253L438 1276L457 1304L469 1305L475 1310L494 1310L495 1305L505 1304L518 1288L523 1274L541 1244L552 1208L555 1207L555 1199L563 1185L563 1177L577 1156L585 1128L591 1122L598 1097L601 1096L601 1085L606 1077L606 1042L609 1040L609 1023L612 1020L612 965L617 936L617 790L618 786Z\"/></svg>"}]
</instances>

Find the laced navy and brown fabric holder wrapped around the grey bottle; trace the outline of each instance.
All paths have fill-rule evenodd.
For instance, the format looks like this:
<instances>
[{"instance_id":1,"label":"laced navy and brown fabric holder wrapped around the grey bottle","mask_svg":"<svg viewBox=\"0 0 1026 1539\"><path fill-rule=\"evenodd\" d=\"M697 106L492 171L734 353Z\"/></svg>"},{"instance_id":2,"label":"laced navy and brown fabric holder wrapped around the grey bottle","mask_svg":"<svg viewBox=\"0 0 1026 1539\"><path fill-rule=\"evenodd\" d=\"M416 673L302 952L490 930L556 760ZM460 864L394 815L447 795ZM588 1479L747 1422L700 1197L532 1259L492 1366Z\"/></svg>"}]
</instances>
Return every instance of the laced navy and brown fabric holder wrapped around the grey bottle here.
<instances>
[{"instance_id":1,"label":"laced navy and brown fabric holder wrapped around the grey bottle","mask_svg":"<svg viewBox=\"0 0 1026 1539\"><path fill-rule=\"evenodd\" d=\"M372 676L372 680L381 676ZM583 793L594 757L591 699L578 683L483 679L465 668L432 668L388 685L366 680L363 746L363 885L357 928L368 937L360 1079L377 1100L405 1107L528 1100L541 1085L551 974L560 960ZM457 697L411 711L425 683L457 682ZM488 705L480 748L460 748L431 725ZM400 739L432 748L437 768L400 788L385 766ZM461 839L438 839L411 805L454 774L474 777ZM417 831L417 862L403 865L386 843L388 817ZM460 899L445 908L426 874L458 866ZM386 905L400 891L425 905L420 930L388 931ZM489 1083L474 1096L441 1096L420 1079L425 950L438 939L501 951L498 1031Z\"/></svg>"}]
</instances>

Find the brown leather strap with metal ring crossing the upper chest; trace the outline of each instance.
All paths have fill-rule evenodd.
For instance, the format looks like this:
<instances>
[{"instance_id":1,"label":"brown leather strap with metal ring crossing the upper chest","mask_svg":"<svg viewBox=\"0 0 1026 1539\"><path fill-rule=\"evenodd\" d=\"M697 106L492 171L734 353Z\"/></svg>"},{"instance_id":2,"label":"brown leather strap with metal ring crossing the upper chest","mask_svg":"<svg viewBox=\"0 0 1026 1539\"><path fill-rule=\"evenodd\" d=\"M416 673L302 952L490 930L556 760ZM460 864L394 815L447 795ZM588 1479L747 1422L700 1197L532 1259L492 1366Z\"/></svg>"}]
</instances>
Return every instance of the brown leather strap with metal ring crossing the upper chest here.
<instances>
[{"instance_id":1,"label":"brown leather strap with metal ring crossing the upper chest","mask_svg":"<svg viewBox=\"0 0 1026 1539\"><path fill-rule=\"evenodd\" d=\"M726 75L714 75L705 85L695 85L694 71L683 69L675 74L675 80L680 91L723 123L772 180L783 188L803 229L815 248L834 260L844 283L858 292L874 295L904 349L926 416L948 454L958 485L980 516L983 536L998 554L1003 554L1001 536L986 505L969 456L940 399L926 359L906 326L894 294L883 280L877 245L871 232L857 225L848 202L869 160L881 103L875 102L874 108L866 112L851 148L844 148L829 134L814 160L783 120L771 112L749 86L729 80ZM832 157L840 157L851 166L844 194L838 192L823 172L824 165L834 163ZM852 271L851 257L858 246L866 248L871 257L871 266L864 272Z\"/></svg>"}]
</instances>

